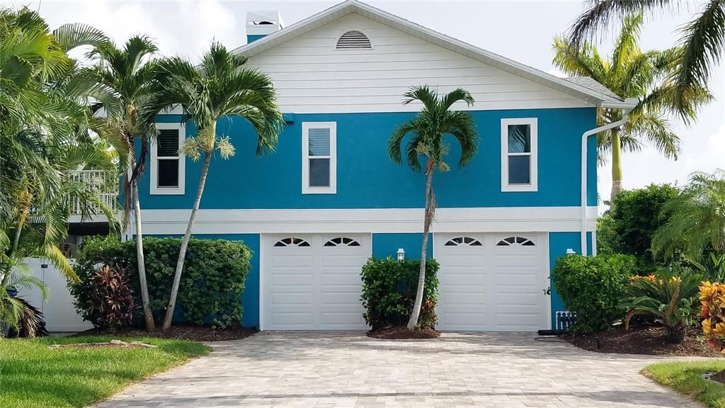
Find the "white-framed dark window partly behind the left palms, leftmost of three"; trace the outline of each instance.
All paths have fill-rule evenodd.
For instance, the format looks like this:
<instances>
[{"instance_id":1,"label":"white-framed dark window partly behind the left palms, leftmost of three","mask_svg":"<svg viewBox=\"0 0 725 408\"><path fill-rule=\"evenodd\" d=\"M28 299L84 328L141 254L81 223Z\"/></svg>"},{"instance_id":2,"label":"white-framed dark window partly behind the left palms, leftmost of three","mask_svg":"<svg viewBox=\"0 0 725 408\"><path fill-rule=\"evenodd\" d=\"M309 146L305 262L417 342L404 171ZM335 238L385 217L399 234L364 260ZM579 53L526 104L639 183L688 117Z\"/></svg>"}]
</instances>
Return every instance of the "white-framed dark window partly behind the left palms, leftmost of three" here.
<instances>
[{"instance_id":1,"label":"white-framed dark window partly behind the left palms, leftmost of three","mask_svg":"<svg viewBox=\"0 0 725 408\"><path fill-rule=\"evenodd\" d=\"M151 146L151 194L184 193L185 160L179 154L186 129L180 123L157 123Z\"/></svg>"}]
</instances>

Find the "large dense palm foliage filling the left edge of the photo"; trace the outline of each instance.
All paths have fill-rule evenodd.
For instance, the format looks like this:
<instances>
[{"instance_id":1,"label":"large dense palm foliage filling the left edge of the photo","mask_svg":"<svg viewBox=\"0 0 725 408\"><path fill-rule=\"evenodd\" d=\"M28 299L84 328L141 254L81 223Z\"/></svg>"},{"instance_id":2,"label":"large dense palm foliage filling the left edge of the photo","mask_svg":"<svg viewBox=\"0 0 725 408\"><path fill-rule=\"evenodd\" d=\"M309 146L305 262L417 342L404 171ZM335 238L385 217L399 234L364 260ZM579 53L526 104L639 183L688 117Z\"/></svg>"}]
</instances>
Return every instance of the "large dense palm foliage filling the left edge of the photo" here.
<instances>
[{"instance_id":1,"label":"large dense palm foliage filling the left edge of the photo","mask_svg":"<svg viewBox=\"0 0 725 408\"><path fill-rule=\"evenodd\" d=\"M69 200L78 201L84 219L100 209L115 226L115 213L93 187L68 174L87 166L117 174L91 133L109 136L91 106L113 111L115 94L67 56L77 46L104 41L101 31L86 25L51 32L28 8L0 9L0 321L12 327L29 306L11 298L7 287L46 290L23 272L23 258L48 258L78 279L58 247L67 237Z\"/></svg>"}]
</instances>

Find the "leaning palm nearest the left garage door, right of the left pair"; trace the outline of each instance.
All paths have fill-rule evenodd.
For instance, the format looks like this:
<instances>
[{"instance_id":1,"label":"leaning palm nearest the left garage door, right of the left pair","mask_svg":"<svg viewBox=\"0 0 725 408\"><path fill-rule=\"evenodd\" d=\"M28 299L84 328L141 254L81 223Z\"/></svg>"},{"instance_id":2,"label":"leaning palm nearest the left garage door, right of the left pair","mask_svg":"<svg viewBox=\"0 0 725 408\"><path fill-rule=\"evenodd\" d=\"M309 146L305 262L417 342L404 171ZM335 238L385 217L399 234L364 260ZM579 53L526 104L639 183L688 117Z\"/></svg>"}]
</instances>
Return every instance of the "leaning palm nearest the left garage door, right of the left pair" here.
<instances>
[{"instance_id":1,"label":"leaning palm nearest the left garage door, right of the left pair","mask_svg":"<svg viewBox=\"0 0 725 408\"><path fill-rule=\"evenodd\" d=\"M181 105L185 120L194 122L198 131L186 139L180 152L195 161L204 156L194 208L181 241L163 330L171 326L186 248L199 213L212 154L218 150L226 159L235 153L229 136L217 135L217 121L239 116L251 123L257 132L257 155L273 151L277 146L284 122L276 105L272 79L258 70L244 68L245 62L246 57L232 54L213 42L199 67L175 57L159 62L156 70L156 89L144 112L145 121L152 123L160 111Z\"/></svg>"}]
</instances>

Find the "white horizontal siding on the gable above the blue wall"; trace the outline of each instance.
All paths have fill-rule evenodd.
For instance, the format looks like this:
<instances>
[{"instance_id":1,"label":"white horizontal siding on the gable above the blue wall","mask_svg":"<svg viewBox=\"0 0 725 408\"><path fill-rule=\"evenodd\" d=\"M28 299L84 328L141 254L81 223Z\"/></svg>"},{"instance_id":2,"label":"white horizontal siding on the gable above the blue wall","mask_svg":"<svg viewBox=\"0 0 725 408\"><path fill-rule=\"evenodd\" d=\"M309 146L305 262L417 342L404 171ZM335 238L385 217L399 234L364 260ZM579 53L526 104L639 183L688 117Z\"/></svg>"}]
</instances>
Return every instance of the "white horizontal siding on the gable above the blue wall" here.
<instances>
[{"instance_id":1,"label":"white horizontal siding on the gable above the blue wall","mask_svg":"<svg viewBox=\"0 0 725 408\"><path fill-rule=\"evenodd\" d=\"M363 30L373 49L334 49L350 29ZM417 111L402 105L402 94L426 84L441 93L462 86L476 99L474 110L591 106L355 14L254 56L249 65L275 80L278 103L289 113Z\"/></svg>"}]
</instances>

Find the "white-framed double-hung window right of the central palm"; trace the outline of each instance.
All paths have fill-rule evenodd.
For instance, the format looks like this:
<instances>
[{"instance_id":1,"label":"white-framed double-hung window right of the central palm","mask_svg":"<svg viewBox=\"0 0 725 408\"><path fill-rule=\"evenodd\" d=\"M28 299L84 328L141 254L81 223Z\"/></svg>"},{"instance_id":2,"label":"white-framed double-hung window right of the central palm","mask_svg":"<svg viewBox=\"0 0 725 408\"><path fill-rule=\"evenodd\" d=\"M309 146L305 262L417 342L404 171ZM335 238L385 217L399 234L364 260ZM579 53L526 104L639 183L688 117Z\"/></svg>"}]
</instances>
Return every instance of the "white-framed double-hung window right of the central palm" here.
<instances>
[{"instance_id":1,"label":"white-framed double-hung window right of the central palm","mask_svg":"<svg viewBox=\"0 0 725 408\"><path fill-rule=\"evenodd\" d=\"M501 120L501 191L537 191L537 118Z\"/></svg>"}]
</instances>

